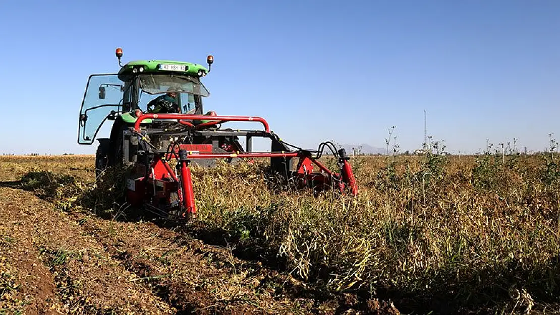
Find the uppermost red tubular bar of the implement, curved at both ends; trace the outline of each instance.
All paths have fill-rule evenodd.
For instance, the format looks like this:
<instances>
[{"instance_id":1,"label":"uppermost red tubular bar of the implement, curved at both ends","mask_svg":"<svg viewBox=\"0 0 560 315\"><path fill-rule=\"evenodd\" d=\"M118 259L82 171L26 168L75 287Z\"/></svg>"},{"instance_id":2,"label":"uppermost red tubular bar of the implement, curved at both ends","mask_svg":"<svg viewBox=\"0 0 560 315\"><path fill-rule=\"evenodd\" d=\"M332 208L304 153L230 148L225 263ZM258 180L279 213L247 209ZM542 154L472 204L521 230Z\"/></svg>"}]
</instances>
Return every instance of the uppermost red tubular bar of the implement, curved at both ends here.
<instances>
[{"instance_id":1,"label":"uppermost red tubular bar of the implement, curved at both ends","mask_svg":"<svg viewBox=\"0 0 560 315\"><path fill-rule=\"evenodd\" d=\"M140 124L143 120L146 119L179 119L179 123L194 127L192 123L189 121L184 120L216 120L221 122L226 121L256 121L257 123L261 123L264 126L264 131L270 133L270 126L268 125L267 121L263 117L254 117L254 116L207 116L207 115L190 115L190 114L142 114L136 120L134 124L134 130L140 131ZM205 123L208 125L212 125L215 123ZM204 124L200 124L204 125Z\"/></svg>"}]
</instances>

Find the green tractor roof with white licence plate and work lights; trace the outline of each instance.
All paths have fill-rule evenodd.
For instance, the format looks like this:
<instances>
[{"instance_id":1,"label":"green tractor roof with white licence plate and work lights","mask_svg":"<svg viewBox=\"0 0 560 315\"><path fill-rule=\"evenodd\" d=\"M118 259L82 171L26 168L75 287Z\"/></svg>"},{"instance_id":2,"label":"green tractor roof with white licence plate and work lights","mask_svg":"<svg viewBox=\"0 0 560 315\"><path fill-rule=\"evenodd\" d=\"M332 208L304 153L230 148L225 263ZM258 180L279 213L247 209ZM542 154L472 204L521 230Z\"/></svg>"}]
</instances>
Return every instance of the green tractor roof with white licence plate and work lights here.
<instances>
[{"instance_id":1,"label":"green tractor roof with white licence plate and work lights","mask_svg":"<svg viewBox=\"0 0 560 315\"><path fill-rule=\"evenodd\" d=\"M119 70L119 78L124 79L136 73L174 73L193 77L203 77L208 69L203 65L175 60L135 60Z\"/></svg>"}]
</instances>

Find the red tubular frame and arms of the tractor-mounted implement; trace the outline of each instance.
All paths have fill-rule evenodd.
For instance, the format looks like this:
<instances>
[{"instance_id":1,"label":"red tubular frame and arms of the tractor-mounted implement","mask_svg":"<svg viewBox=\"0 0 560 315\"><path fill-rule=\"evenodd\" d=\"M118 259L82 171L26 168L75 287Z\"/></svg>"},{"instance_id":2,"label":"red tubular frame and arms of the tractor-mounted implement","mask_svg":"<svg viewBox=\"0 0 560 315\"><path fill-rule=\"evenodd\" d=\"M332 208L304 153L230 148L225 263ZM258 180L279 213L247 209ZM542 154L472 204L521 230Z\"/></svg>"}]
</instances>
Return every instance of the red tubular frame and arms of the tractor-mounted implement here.
<instances>
[{"instance_id":1,"label":"red tubular frame and arms of the tractor-mounted implement","mask_svg":"<svg viewBox=\"0 0 560 315\"><path fill-rule=\"evenodd\" d=\"M151 183L153 193L156 195L156 182L160 186L164 183L169 183L165 187L172 187L171 190L176 191L177 199L175 201L169 200L170 203L180 206L180 212L183 216L195 217L197 213L194 192L192 184L192 176L190 173L189 163L191 159L208 159L208 158L294 158L298 157L299 161L295 171L288 171L282 174L288 181L295 180L298 188L311 187L315 192L325 190L327 187L332 187L342 194L347 191L351 195L357 195L358 189L356 180L352 173L352 167L349 164L349 157L346 151L341 148L337 151L335 145L331 142L324 142L319 145L317 151L309 151L295 147L294 145L283 142L278 135L271 133L269 125L262 117L253 116L206 116L206 115L189 115L189 114L143 114L138 117L134 128L131 130L138 136L139 142L150 145L146 137L142 134L141 123L145 119L176 119L178 123L194 130L200 130L207 126L224 123L226 121L250 121L258 122L263 125L265 137L270 138L273 142L281 143L282 147L292 147L296 151L281 151L281 152L189 152L181 148L181 143L172 143L167 148L165 153L154 154L150 162L150 170L142 178L137 178L136 185L145 186L146 183ZM196 120L211 120L208 123L195 124ZM335 173L321 164L318 159L323 155L325 148L329 148L333 156L337 158L339 173ZM176 159L178 161L177 170L174 172L167 161ZM314 166L318 167L320 172L313 172ZM167 190L168 188L165 188ZM162 198L164 193L158 195ZM141 200L146 200L141 197L138 200L138 194L134 195L138 203ZM153 197L153 196L152 196ZM133 198L134 199L134 198ZM153 199L153 198L152 198ZM151 208L157 208L156 204L149 205ZM155 210L155 209L153 209Z\"/></svg>"}]
</instances>

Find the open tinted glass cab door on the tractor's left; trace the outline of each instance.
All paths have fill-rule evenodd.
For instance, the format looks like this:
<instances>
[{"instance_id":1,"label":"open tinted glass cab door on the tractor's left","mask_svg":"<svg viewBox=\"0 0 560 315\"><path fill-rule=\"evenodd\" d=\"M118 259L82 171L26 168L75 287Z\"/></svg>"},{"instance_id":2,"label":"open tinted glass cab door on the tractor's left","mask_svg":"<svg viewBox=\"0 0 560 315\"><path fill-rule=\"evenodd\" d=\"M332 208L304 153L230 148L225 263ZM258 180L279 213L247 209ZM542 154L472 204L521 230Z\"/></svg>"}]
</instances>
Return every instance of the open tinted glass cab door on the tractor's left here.
<instances>
[{"instance_id":1,"label":"open tinted glass cab door on the tractor's left","mask_svg":"<svg viewBox=\"0 0 560 315\"><path fill-rule=\"evenodd\" d=\"M122 112L124 82L118 74L93 74L87 80L78 123L78 143L92 144L108 118Z\"/></svg>"}]
</instances>

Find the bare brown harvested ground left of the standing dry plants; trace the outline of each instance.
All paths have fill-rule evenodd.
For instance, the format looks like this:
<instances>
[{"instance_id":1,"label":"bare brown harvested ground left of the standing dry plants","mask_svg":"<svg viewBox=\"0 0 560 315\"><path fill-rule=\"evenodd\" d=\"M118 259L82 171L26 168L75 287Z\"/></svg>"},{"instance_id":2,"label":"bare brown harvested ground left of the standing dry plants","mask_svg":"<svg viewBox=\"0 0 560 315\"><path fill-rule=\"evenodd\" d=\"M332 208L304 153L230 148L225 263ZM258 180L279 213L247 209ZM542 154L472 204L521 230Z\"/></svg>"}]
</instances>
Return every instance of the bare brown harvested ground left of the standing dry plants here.
<instances>
[{"instance_id":1,"label":"bare brown harvested ground left of the standing dry plants","mask_svg":"<svg viewBox=\"0 0 560 315\"><path fill-rule=\"evenodd\" d=\"M0 163L0 314L398 314L376 300L318 298L287 273L161 224L61 211L21 189L28 169Z\"/></svg>"}]
</instances>

